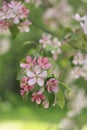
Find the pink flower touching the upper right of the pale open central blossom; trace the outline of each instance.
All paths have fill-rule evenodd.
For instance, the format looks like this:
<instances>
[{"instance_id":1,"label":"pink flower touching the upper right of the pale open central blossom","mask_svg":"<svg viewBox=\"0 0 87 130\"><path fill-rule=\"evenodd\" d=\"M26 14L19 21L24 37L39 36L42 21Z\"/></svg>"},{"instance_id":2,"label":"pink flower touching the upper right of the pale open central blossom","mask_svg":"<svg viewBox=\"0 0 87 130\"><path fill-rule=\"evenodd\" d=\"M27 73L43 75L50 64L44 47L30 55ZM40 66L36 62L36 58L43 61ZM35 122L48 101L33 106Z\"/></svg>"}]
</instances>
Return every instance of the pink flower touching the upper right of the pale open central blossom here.
<instances>
[{"instance_id":1,"label":"pink flower touching the upper right of the pale open central blossom","mask_svg":"<svg viewBox=\"0 0 87 130\"><path fill-rule=\"evenodd\" d=\"M49 60L46 57L45 58L39 57L38 64L43 69L49 69L51 67L51 63L49 63Z\"/></svg>"}]
</instances>

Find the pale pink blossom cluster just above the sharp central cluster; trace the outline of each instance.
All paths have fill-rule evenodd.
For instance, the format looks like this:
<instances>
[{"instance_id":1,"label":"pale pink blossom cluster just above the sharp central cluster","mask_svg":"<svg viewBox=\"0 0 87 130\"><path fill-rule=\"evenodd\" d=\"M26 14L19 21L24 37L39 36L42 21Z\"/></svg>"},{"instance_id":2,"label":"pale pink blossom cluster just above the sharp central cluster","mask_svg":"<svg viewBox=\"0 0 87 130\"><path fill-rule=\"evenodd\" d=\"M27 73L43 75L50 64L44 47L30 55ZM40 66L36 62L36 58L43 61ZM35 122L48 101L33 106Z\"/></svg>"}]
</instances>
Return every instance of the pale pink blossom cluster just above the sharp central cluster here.
<instances>
[{"instance_id":1,"label":"pale pink blossom cluster just above the sharp central cluster","mask_svg":"<svg viewBox=\"0 0 87 130\"><path fill-rule=\"evenodd\" d=\"M58 55L62 53L62 43L56 37L52 39L50 34L43 33L42 38L39 40L39 43L42 45L42 48L51 47L50 51L55 60L57 59Z\"/></svg>"}]
</instances>

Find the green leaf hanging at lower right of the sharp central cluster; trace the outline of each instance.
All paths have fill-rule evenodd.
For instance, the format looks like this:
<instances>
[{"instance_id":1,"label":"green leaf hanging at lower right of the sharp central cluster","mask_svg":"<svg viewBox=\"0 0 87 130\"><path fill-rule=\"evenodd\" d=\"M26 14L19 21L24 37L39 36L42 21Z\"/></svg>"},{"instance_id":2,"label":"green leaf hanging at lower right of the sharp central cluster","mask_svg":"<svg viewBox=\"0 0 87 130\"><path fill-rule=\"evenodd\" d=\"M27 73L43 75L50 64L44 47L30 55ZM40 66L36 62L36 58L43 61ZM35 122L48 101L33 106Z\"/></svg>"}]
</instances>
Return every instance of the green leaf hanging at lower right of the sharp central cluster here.
<instances>
[{"instance_id":1,"label":"green leaf hanging at lower right of the sharp central cluster","mask_svg":"<svg viewBox=\"0 0 87 130\"><path fill-rule=\"evenodd\" d=\"M65 106L65 96L61 89L56 94L56 103L61 109Z\"/></svg>"}]
</instances>

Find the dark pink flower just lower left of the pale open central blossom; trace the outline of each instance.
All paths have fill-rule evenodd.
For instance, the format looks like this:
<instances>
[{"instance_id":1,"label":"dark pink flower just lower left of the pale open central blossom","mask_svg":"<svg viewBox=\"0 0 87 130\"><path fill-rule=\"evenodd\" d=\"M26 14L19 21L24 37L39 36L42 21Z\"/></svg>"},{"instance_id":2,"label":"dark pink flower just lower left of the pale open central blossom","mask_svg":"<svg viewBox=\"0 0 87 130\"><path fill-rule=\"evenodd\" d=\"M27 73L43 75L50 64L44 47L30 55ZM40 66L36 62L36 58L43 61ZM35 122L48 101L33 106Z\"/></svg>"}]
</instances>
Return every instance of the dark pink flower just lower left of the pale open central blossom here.
<instances>
[{"instance_id":1,"label":"dark pink flower just lower left of the pale open central blossom","mask_svg":"<svg viewBox=\"0 0 87 130\"><path fill-rule=\"evenodd\" d=\"M20 84L20 87L25 91L31 91L34 86L30 86L28 85L28 77L27 76L23 76L22 77L22 81L21 81L21 84Z\"/></svg>"}]
</instances>

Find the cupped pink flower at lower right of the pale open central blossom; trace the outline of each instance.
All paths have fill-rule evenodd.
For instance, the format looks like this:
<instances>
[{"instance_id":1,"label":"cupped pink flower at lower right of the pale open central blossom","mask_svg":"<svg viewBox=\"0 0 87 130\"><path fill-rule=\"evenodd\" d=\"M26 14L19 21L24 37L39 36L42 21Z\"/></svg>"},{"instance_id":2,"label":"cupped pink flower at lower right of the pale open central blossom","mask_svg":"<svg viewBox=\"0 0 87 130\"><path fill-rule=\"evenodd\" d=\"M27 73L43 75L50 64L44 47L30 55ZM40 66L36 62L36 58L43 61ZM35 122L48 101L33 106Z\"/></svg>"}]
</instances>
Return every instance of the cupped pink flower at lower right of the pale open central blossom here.
<instances>
[{"instance_id":1,"label":"cupped pink flower at lower right of the pale open central blossom","mask_svg":"<svg viewBox=\"0 0 87 130\"><path fill-rule=\"evenodd\" d=\"M58 81L54 78L51 78L47 81L46 87L49 93L58 91Z\"/></svg>"}]
</instances>

